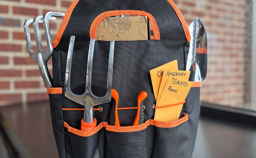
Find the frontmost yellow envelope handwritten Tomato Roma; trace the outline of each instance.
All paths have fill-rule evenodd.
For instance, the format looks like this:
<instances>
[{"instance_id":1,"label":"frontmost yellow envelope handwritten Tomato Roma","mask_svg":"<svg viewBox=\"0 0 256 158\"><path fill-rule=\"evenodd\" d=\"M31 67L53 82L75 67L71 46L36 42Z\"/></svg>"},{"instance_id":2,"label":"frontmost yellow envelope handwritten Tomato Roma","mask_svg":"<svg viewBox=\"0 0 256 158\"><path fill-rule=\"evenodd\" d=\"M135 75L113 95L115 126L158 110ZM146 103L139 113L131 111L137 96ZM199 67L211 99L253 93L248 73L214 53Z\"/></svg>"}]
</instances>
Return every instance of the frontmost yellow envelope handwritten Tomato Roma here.
<instances>
[{"instance_id":1,"label":"frontmost yellow envelope handwritten Tomato Roma","mask_svg":"<svg viewBox=\"0 0 256 158\"><path fill-rule=\"evenodd\" d=\"M192 84L193 82L185 79L177 78L176 76L169 76L157 107L184 102ZM182 105L183 104L156 108L154 120L164 122L178 120Z\"/></svg>"}]
</instances>

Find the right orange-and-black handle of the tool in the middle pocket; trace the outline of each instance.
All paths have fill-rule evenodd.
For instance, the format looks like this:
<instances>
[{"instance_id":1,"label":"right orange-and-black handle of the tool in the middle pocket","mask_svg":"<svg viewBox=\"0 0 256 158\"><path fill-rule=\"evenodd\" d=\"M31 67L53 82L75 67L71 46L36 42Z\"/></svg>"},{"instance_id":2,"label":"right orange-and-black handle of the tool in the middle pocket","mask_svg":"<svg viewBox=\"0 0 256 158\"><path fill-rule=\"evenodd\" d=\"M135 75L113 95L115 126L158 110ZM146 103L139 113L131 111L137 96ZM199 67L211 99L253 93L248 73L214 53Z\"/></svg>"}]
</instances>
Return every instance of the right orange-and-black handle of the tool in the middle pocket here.
<instances>
[{"instance_id":1,"label":"right orange-and-black handle of the tool in the middle pocket","mask_svg":"<svg viewBox=\"0 0 256 158\"><path fill-rule=\"evenodd\" d=\"M143 102L144 102L144 99L146 99L146 97L147 97L147 92L145 91L142 91L138 95L138 109L137 109L137 115L133 122L133 126L143 124L144 122Z\"/></svg>"}]
</instances>

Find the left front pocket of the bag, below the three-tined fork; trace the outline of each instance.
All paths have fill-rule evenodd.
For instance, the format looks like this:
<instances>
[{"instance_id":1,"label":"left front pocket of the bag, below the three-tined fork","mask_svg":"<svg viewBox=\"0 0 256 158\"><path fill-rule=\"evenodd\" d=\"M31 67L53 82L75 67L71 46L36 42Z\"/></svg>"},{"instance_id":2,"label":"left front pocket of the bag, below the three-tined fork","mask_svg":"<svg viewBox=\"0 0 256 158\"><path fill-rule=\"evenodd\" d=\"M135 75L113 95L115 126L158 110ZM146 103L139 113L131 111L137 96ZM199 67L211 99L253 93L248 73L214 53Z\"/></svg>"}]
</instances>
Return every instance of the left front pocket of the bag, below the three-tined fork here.
<instances>
[{"instance_id":1,"label":"left front pocket of the bag, below the three-tined fork","mask_svg":"<svg viewBox=\"0 0 256 158\"><path fill-rule=\"evenodd\" d=\"M74 158L105 158L105 125L100 123L90 131L81 131L69 126L64 126L69 131L70 143Z\"/></svg>"}]
</instances>

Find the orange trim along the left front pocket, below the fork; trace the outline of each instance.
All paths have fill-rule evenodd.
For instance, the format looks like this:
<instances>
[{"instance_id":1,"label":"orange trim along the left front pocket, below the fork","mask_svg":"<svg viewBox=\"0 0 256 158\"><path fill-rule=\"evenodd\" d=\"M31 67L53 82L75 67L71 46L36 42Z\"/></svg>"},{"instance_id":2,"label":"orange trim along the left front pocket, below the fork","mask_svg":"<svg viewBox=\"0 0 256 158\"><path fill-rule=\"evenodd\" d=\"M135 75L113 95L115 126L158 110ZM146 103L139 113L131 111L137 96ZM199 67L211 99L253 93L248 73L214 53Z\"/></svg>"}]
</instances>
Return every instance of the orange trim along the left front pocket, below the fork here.
<instances>
[{"instance_id":1,"label":"orange trim along the left front pocket, below the fork","mask_svg":"<svg viewBox=\"0 0 256 158\"><path fill-rule=\"evenodd\" d=\"M65 121L63 121L63 122L64 122L64 127L66 127L69 132L71 132L75 135L79 135L79 136L91 136L91 135L97 133L100 129L102 129L102 127L105 127L107 124L107 122L102 122L92 130L81 131L81 130L78 130L78 129L75 129L75 128L69 126L69 124L67 124L67 122L65 122Z\"/></svg>"}]
</instances>

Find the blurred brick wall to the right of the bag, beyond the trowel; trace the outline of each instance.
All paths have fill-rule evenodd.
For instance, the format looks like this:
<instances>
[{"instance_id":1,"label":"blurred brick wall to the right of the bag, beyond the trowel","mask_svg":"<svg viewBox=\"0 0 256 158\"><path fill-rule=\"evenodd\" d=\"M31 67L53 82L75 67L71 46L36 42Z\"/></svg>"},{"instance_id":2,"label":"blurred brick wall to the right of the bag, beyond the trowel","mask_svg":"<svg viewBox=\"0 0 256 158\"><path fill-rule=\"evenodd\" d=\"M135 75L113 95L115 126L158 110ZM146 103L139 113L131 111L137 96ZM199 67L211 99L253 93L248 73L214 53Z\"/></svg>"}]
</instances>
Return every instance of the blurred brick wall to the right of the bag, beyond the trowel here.
<instances>
[{"instance_id":1,"label":"blurred brick wall to the right of the bag, beyond the trowel","mask_svg":"<svg viewBox=\"0 0 256 158\"><path fill-rule=\"evenodd\" d=\"M175 0L187 25L199 17L208 35L207 77L201 100L243 107L244 0Z\"/></svg>"}]
</instances>

